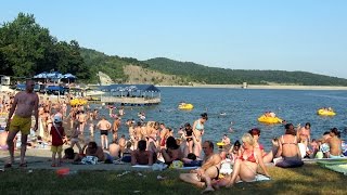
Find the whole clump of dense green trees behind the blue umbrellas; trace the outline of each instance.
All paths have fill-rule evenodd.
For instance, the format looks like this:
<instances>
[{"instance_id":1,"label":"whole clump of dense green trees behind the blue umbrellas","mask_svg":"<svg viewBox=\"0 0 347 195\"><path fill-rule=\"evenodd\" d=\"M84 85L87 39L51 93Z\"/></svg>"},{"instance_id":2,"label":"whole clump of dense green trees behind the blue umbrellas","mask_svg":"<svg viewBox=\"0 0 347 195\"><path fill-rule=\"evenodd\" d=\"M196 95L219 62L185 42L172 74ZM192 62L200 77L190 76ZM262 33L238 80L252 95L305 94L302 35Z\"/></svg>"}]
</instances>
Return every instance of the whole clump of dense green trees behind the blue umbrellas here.
<instances>
[{"instance_id":1,"label":"whole clump of dense green trees behind the blue umbrellas","mask_svg":"<svg viewBox=\"0 0 347 195\"><path fill-rule=\"evenodd\" d=\"M16 77L51 70L81 79L90 76L76 40L57 41L48 28L35 22L33 14L24 13L0 26L0 65L1 75Z\"/></svg>"}]
</instances>

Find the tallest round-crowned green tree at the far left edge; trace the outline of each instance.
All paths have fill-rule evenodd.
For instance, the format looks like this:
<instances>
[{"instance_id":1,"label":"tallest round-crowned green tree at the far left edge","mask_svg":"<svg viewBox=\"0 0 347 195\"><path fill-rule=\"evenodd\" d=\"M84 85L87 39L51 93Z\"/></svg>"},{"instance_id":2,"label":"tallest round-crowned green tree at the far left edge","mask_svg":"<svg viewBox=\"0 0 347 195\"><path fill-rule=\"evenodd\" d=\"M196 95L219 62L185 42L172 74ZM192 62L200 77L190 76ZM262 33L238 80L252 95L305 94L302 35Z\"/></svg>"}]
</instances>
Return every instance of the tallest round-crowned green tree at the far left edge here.
<instances>
[{"instance_id":1,"label":"tallest round-crowned green tree at the far left edge","mask_svg":"<svg viewBox=\"0 0 347 195\"><path fill-rule=\"evenodd\" d=\"M36 24L33 14L20 13L12 23L4 23L0 36L0 51L14 76L33 76L52 46L49 30Z\"/></svg>"}]
</instances>

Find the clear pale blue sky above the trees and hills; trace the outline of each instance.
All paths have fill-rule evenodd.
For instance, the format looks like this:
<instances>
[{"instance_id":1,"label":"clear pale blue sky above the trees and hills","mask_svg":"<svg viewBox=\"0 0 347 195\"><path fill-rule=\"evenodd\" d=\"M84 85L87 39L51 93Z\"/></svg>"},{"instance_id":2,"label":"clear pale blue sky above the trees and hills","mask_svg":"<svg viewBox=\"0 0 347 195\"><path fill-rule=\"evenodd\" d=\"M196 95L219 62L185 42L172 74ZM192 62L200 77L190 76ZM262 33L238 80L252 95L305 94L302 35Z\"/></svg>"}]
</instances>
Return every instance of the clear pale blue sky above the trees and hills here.
<instances>
[{"instance_id":1,"label":"clear pale blue sky above the trees and hills","mask_svg":"<svg viewBox=\"0 0 347 195\"><path fill-rule=\"evenodd\" d=\"M347 78L346 10L345 0L18 0L1 2L0 22L30 13L59 40L110 55Z\"/></svg>"}]
</instances>

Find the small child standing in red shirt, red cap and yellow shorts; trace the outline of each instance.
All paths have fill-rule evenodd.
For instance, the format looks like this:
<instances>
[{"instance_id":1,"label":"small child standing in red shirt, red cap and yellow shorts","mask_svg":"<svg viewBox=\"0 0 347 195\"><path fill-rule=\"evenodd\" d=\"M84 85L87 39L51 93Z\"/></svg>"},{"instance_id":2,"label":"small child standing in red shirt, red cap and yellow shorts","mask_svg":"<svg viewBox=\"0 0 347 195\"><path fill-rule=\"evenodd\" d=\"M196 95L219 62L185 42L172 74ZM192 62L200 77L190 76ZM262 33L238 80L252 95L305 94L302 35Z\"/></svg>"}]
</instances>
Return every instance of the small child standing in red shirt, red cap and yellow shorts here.
<instances>
[{"instance_id":1,"label":"small child standing in red shirt, red cap and yellow shorts","mask_svg":"<svg viewBox=\"0 0 347 195\"><path fill-rule=\"evenodd\" d=\"M63 144L65 139L65 132L63 128L63 121L60 116L54 116L54 125L51 127L52 135L52 167L60 167L62 161L62 152L63 152ZM57 154L57 160L55 156Z\"/></svg>"}]
</instances>

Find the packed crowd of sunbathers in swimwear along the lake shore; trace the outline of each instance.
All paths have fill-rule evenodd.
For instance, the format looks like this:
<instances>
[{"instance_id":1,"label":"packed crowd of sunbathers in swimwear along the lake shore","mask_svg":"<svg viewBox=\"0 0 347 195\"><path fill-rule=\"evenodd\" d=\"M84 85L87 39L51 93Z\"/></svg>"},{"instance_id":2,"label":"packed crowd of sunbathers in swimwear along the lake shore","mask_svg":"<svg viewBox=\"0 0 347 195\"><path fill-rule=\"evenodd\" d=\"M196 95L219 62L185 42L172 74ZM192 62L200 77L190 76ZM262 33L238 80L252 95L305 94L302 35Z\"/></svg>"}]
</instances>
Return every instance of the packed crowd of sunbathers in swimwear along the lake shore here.
<instances>
[{"instance_id":1,"label":"packed crowd of sunbathers in swimwear along the lake shore","mask_svg":"<svg viewBox=\"0 0 347 195\"><path fill-rule=\"evenodd\" d=\"M11 99L3 99L1 102L5 100L11 103ZM3 107L5 106L1 106ZM64 101L52 103L41 100L38 113L46 135L49 134L53 167L61 166L64 159L77 164L116 160L150 166L159 161L169 166L180 160L185 166L200 167L191 173L182 173L180 179L197 186L205 186L205 191L232 186L237 181L252 181L259 171L270 177L265 166L268 162L273 161L278 167L291 168L303 166L303 158L340 158L346 155L346 147L336 128L325 132L321 139L311 139L309 122L305 127L286 123L284 134L273 139L272 150L266 152L259 143L261 131L258 128L246 131L240 141L233 144L224 134L220 150L214 150L216 143L203 141L205 122L208 120L206 113L192 125L185 122L177 132L179 138L175 138L174 129L166 127L164 122L144 121L143 118L138 122L133 119L127 120L128 138L125 134L118 138L120 114L110 115L113 117L113 123L107 121L105 116L100 117L98 109L91 110L88 105L73 107L67 115L67 104ZM121 115L124 114L121 108ZM69 126L63 126L64 118L69 119ZM94 123L95 120L98 122ZM68 128L69 131L66 133ZM89 129L91 138L94 135L94 129L100 130L100 146L92 140L83 140L81 146L79 142L86 129ZM107 143L108 132L113 134L111 144ZM70 147L65 148L65 155L62 156L63 144L67 140ZM74 151L75 145L78 152ZM95 158L90 158L91 156ZM222 167L231 171L223 171ZM219 176L223 172L226 174L220 179Z\"/></svg>"}]
</instances>

